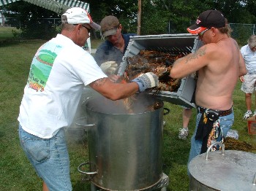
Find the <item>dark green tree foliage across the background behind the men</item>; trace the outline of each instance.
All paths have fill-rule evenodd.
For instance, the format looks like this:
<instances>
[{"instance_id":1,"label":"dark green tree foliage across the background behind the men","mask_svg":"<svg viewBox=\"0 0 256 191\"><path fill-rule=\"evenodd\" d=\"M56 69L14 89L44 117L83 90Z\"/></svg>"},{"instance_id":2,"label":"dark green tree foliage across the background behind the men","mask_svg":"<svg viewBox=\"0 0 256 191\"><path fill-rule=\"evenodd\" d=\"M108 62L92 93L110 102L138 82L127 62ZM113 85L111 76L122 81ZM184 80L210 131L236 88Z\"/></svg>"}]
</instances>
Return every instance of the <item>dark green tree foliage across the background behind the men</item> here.
<instances>
[{"instance_id":1,"label":"dark green tree foliage across the background behind the men","mask_svg":"<svg viewBox=\"0 0 256 191\"><path fill-rule=\"evenodd\" d=\"M103 17L114 15L120 20L124 33L137 33L137 0L88 0L86 2L90 5L94 22L100 23ZM20 12L15 15L16 20L20 20L19 24L17 21L16 23L13 20L9 21L12 26L16 25L23 29L23 34L20 36L30 39L49 39L56 34L52 23L49 20L43 21L42 18L60 17L60 15L25 1L16 1L4 7ZM256 3L253 0L143 0L141 34L187 33L187 27L195 23L200 12L207 9L218 9L227 17L229 23L256 23ZM6 17L13 17L13 15L6 15ZM91 34L92 38L97 36L99 36L97 33Z\"/></svg>"}]
</instances>

